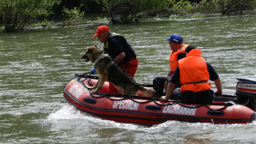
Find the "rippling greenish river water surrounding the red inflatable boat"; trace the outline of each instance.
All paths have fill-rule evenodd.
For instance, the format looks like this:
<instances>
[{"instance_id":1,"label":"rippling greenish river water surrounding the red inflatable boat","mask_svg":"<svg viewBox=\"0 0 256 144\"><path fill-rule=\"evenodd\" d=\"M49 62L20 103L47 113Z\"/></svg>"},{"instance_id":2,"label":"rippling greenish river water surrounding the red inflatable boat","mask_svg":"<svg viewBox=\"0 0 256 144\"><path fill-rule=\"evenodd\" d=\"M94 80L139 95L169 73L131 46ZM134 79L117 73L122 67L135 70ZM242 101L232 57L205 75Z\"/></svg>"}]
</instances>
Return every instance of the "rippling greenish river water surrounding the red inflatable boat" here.
<instances>
[{"instance_id":1,"label":"rippling greenish river water surrounding the red inflatable boat","mask_svg":"<svg viewBox=\"0 0 256 144\"><path fill-rule=\"evenodd\" d=\"M108 22L0 34L0 143L256 143L256 122L138 126L94 118L69 106L63 86L93 66L81 57L89 46L102 47L92 38L102 24ZM234 90L236 78L255 77L255 13L154 18L138 25L110 26L110 31L124 35L134 46L139 61L134 79L139 83L149 84L168 73L166 37L174 33L202 50L224 89Z\"/></svg>"}]
</instances>

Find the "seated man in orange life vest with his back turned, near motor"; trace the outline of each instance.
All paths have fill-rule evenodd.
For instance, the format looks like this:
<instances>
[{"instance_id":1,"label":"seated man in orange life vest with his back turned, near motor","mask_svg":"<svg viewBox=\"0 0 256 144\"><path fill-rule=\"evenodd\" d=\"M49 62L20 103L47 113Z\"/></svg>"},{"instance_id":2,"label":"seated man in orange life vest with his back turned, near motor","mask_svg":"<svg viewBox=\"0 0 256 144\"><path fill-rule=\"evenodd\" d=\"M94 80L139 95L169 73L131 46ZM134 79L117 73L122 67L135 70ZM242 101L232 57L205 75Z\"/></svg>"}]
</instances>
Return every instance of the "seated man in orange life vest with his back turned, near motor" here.
<instances>
[{"instance_id":1,"label":"seated man in orange life vest with his back turned, near motor","mask_svg":"<svg viewBox=\"0 0 256 144\"><path fill-rule=\"evenodd\" d=\"M214 94L222 94L222 83L218 74L204 58L200 58L201 50L190 47L186 49L186 53L186 58L178 61L178 67L168 82L166 95L160 100L166 102L173 94L175 85L181 83L181 102L200 104L213 102ZM209 79L214 81L216 92L210 90L210 83L207 82Z\"/></svg>"}]
</instances>

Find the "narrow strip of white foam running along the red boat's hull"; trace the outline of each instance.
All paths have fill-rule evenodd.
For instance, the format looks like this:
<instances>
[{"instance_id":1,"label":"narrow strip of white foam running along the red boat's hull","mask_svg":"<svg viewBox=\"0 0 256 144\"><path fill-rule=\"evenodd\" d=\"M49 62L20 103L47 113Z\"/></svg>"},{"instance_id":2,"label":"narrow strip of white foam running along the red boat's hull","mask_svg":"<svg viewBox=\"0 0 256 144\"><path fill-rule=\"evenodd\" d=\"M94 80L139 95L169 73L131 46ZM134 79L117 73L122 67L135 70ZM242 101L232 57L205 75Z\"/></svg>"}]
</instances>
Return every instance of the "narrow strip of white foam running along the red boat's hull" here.
<instances>
[{"instance_id":1,"label":"narrow strip of white foam running along the red boat's hull","mask_svg":"<svg viewBox=\"0 0 256 144\"><path fill-rule=\"evenodd\" d=\"M172 130L174 130L175 126L186 126L186 128L200 128L200 129L219 129L225 127L241 127L241 126L256 126L256 121L250 124L232 124L232 125L214 125L211 123L188 123L188 122L178 122L178 121L167 121L163 122L158 125L154 126L141 126L135 125L130 123L121 123L121 122L114 122L102 118L96 118L90 114L82 113L81 111L77 110L74 106L70 106L68 104L62 106L59 110L54 110L48 117L47 121L56 122L59 120L72 120L72 119L82 119L83 121L91 122L100 126L113 126L114 128L121 128L126 130L139 130L139 131L146 131L146 132L160 132L162 130L168 129L170 126ZM139 129L138 129L139 128ZM179 128L180 129L180 128Z\"/></svg>"}]
</instances>

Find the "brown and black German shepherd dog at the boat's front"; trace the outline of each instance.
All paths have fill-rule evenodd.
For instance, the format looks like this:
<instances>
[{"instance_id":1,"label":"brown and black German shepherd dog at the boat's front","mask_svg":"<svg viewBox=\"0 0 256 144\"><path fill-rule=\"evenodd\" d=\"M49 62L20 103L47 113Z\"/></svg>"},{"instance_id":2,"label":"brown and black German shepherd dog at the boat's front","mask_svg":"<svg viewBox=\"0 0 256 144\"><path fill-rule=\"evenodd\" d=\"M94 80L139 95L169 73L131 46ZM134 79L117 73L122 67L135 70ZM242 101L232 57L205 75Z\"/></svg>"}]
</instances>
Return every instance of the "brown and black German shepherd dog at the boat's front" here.
<instances>
[{"instance_id":1,"label":"brown and black German shepherd dog at the boat's front","mask_svg":"<svg viewBox=\"0 0 256 144\"><path fill-rule=\"evenodd\" d=\"M122 94L137 95L138 90L146 96L153 96L155 90L147 90L142 85L134 81L125 70L116 64L110 56L103 54L104 51L96 46L86 49L86 54L82 56L86 62L93 62L96 72L99 74L98 82L90 88L96 89L92 93L97 93L102 89L105 81L111 82Z\"/></svg>"}]
</instances>

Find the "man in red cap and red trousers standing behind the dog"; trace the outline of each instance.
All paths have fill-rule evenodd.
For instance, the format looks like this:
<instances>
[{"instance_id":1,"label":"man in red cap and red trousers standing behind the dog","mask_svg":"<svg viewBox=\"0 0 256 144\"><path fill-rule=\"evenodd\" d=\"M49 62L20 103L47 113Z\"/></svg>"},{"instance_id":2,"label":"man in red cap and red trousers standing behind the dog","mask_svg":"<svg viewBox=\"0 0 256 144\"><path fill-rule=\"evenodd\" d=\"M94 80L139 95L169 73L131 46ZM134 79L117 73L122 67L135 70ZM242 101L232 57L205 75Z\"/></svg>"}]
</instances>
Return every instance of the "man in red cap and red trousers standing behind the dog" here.
<instances>
[{"instance_id":1,"label":"man in red cap and red trousers standing behind the dog","mask_svg":"<svg viewBox=\"0 0 256 144\"><path fill-rule=\"evenodd\" d=\"M98 40L104 43L105 54L113 59L118 66L122 67L123 70L126 70L132 78L138 67L138 59L134 48L130 46L130 43L127 42L120 34L110 33L108 26L98 26L94 38L98 37ZM94 68L90 70L90 74L95 74ZM119 94L118 90L110 83L110 93Z\"/></svg>"}]
</instances>

